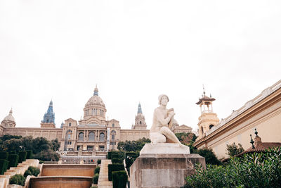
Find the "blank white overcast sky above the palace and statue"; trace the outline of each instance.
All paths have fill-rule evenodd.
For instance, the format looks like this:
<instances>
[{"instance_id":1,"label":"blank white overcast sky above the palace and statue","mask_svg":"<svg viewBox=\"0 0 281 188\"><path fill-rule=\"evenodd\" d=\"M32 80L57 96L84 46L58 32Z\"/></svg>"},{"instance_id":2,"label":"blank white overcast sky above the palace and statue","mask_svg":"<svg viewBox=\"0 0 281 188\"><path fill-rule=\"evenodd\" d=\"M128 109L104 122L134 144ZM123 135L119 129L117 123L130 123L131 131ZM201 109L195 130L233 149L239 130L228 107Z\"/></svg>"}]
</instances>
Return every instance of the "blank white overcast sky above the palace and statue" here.
<instances>
[{"instance_id":1,"label":"blank white overcast sky above the palace and statue","mask_svg":"<svg viewBox=\"0 0 281 188\"><path fill-rule=\"evenodd\" d=\"M0 0L0 119L39 127L53 99L60 127L98 84L123 129L163 93L195 129L202 84L221 119L280 80L280 34L281 1Z\"/></svg>"}]
</instances>

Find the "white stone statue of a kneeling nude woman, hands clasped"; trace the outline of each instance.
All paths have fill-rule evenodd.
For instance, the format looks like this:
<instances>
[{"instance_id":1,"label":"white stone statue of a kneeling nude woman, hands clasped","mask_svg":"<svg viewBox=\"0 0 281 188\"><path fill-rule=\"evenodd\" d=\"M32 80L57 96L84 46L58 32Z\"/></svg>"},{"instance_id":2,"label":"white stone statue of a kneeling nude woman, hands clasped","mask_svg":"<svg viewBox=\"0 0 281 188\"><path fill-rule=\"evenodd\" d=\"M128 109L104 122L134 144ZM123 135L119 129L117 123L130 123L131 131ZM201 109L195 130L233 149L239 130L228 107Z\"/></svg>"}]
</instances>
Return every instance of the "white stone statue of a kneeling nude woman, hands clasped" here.
<instances>
[{"instance_id":1,"label":"white stone statue of a kneeling nude woman, hands clasped","mask_svg":"<svg viewBox=\"0 0 281 188\"><path fill-rule=\"evenodd\" d=\"M159 107L155 108L153 113L153 123L150 129L150 140L153 144L157 143L176 143L184 146L178 140L174 132L169 128L173 125L174 121L174 108L166 109L169 102L168 96L161 94L158 97Z\"/></svg>"}]
</instances>

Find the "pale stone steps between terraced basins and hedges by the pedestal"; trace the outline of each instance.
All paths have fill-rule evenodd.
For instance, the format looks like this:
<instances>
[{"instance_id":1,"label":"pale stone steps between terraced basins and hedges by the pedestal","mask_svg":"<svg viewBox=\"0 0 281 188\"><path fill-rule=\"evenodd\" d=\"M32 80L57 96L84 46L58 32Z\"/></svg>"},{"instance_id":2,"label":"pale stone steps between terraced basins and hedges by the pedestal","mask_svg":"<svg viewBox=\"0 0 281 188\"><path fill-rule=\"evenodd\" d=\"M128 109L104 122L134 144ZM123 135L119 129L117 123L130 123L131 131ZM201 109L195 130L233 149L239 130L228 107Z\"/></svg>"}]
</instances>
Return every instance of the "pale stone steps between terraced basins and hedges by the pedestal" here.
<instances>
[{"instance_id":1,"label":"pale stone steps between terraced basins and hedges by the pedestal","mask_svg":"<svg viewBox=\"0 0 281 188\"><path fill-rule=\"evenodd\" d=\"M98 175L98 188L112 188L112 181L108 181L107 165L111 160L103 159L100 163L100 175Z\"/></svg>"}]
</instances>

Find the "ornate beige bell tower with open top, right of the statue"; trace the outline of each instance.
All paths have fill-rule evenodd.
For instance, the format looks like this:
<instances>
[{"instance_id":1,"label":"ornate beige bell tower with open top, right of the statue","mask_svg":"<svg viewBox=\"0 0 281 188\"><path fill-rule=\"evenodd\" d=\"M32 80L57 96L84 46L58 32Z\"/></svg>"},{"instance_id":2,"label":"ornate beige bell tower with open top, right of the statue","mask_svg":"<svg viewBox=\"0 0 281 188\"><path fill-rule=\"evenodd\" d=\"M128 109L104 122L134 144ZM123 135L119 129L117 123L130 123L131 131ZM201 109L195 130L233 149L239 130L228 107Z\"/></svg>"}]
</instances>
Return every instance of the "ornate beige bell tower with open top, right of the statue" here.
<instances>
[{"instance_id":1,"label":"ornate beige bell tower with open top, right of the statue","mask_svg":"<svg viewBox=\"0 0 281 188\"><path fill-rule=\"evenodd\" d=\"M210 97L205 95L203 87L202 98L199 99L199 101L196 103L200 106L201 109L201 115L198 118L199 137L197 139L201 139L202 137L204 137L207 131L211 130L211 128L215 127L219 123L218 117L213 111L212 102L215 100L216 99L211 97L211 94Z\"/></svg>"}]
</instances>

